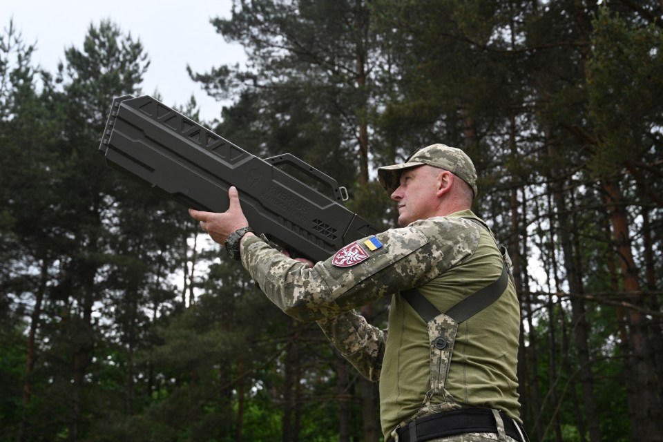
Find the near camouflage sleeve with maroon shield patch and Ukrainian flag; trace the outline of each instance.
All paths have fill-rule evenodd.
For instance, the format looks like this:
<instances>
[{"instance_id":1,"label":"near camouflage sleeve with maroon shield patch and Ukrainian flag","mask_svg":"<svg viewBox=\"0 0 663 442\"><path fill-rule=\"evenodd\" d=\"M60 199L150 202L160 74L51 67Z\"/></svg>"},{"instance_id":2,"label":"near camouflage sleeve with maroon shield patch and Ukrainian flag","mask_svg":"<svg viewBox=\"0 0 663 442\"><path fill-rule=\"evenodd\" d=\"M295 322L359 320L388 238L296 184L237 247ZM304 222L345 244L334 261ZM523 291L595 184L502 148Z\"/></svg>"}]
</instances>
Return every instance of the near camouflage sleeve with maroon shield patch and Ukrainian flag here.
<instances>
[{"instance_id":1,"label":"near camouflage sleeve with maroon shield patch and Ukrainian flag","mask_svg":"<svg viewBox=\"0 0 663 442\"><path fill-rule=\"evenodd\" d=\"M417 221L376 235L378 247L359 240L312 268L249 237L242 264L282 311L318 320L436 278L472 256L479 229L463 218Z\"/></svg>"}]
</instances>

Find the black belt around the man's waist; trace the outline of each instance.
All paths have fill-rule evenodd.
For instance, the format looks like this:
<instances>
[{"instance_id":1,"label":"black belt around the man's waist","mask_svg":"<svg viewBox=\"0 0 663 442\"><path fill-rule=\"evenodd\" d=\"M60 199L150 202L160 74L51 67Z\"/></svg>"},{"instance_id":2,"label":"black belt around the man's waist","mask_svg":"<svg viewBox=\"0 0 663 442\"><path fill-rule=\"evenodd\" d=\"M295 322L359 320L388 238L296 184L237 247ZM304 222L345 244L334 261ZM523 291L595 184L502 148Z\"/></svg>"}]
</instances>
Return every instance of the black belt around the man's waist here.
<instances>
[{"instance_id":1,"label":"black belt around the man's waist","mask_svg":"<svg viewBox=\"0 0 663 442\"><path fill-rule=\"evenodd\" d=\"M525 432L521 438L519 429L513 419L506 413L499 412L504 423L506 435L519 442L528 442ZM412 428L412 425L415 427ZM416 432L414 431L416 429ZM491 410L484 408L465 408L451 410L425 416L410 422L407 426L396 430L398 442L423 442L446 436L465 433L496 433L497 423Z\"/></svg>"}]
</instances>

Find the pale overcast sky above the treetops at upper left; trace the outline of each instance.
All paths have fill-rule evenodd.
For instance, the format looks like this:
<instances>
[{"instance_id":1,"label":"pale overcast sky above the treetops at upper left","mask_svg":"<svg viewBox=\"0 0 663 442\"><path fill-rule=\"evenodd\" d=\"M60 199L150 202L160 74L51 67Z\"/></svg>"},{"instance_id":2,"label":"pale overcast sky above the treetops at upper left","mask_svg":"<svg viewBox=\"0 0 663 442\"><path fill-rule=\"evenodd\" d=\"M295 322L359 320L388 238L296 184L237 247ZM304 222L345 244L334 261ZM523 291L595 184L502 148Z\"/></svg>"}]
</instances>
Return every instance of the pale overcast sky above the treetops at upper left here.
<instances>
[{"instance_id":1,"label":"pale overcast sky above the treetops at upper left","mask_svg":"<svg viewBox=\"0 0 663 442\"><path fill-rule=\"evenodd\" d=\"M34 64L55 73L65 48L82 49L90 23L111 19L123 34L140 39L150 58L142 92L158 90L168 106L185 104L194 95L201 119L211 121L218 119L222 103L189 79L186 66L204 73L244 59L242 48L227 44L210 23L229 18L230 11L231 0L3 0L0 25L6 30L13 18L23 42L37 44Z\"/></svg>"}]
</instances>

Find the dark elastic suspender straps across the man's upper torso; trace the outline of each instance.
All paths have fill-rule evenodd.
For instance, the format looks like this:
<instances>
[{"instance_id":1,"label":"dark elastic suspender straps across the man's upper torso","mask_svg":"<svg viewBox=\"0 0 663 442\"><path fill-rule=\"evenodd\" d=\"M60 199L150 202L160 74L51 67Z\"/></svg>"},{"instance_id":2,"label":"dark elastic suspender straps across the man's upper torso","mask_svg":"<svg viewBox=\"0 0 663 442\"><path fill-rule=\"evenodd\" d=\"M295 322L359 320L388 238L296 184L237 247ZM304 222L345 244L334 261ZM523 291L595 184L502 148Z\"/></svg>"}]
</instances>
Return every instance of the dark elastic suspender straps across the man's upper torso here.
<instances>
[{"instance_id":1,"label":"dark elastic suspender straps across the man's upper torso","mask_svg":"<svg viewBox=\"0 0 663 442\"><path fill-rule=\"evenodd\" d=\"M474 221L483 229L486 229L486 227L484 227L483 224L481 224L481 222L478 220L474 220L472 218L465 219ZM500 248L498 247L498 250L499 249ZM486 287L483 287L483 289L479 289L470 296L461 300L448 311L446 311L445 314L455 320L456 323L462 323L464 320L474 316L475 314L479 313L479 311L485 309L493 302L498 300L499 297L502 296L504 290L506 290L508 282L509 274L506 269L506 265L504 264L504 260L502 260L502 274L499 276L499 278L497 278L497 280L491 282ZM439 309L437 309L437 307L432 305L432 302L427 300L416 288L402 291L401 296L403 299L410 303L414 311L416 311L426 323L435 318L435 316L438 316L442 313L439 311Z\"/></svg>"}]
</instances>

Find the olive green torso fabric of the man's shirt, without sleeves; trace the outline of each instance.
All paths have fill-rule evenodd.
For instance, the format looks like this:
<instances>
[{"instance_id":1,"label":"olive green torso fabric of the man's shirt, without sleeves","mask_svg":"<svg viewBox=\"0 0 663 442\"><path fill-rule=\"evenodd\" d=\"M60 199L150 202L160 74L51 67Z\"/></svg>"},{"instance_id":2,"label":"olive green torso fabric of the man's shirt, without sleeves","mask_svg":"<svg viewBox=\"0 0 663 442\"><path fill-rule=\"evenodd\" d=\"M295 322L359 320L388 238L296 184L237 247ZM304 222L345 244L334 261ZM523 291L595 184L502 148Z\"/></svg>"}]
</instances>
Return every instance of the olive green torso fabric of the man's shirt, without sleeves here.
<instances>
[{"instance_id":1,"label":"olive green torso fabric of the man's shirt, without sleeves","mask_svg":"<svg viewBox=\"0 0 663 442\"><path fill-rule=\"evenodd\" d=\"M474 252L437 278L417 287L439 311L486 287L501 275L502 258L488 231ZM446 390L457 403L504 410L519 421L516 376L519 302L509 282L492 305L465 320L454 341ZM430 346L423 319L401 296L394 296L380 376L383 432L412 416L430 388ZM444 398L433 396L432 403Z\"/></svg>"}]
</instances>

